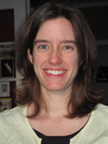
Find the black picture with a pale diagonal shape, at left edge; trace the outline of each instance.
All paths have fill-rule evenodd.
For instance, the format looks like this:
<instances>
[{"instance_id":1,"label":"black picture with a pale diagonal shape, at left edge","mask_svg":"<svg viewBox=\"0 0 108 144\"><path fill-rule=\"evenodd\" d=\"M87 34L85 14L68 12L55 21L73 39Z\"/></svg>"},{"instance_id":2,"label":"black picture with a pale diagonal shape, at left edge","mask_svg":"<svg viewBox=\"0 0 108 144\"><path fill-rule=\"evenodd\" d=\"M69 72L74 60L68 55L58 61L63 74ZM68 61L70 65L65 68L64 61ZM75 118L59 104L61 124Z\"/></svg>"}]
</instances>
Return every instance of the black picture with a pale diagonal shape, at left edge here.
<instances>
[{"instance_id":1,"label":"black picture with a pale diagonal shape, at left edge","mask_svg":"<svg viewBox=\"0 0 108 144\"><path fill-rule=\"evenodd\" d=\"M14 58L1 59L1 78L14 77Z\"/></svg>"}]
</instances>

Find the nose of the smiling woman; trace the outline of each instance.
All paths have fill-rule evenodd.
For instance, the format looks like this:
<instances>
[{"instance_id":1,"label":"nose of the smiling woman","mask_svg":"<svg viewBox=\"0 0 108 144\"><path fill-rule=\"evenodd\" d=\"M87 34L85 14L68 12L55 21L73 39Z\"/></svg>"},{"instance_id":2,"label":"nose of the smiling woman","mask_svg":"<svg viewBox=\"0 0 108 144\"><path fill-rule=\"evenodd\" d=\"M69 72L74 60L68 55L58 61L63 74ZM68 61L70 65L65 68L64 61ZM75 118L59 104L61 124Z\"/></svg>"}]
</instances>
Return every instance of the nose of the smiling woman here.
<instances>
[{"instance_id":1,"label":"nose of the smiling woman","mask_svg":"<svg viewBox=\"0 0 108 144\"><path fill-rule=\"evenodd\" d=\"M57 65L61 63L61 55L57 50L53 50L49 57L49 63L53 65Z\"/></svg>"}]
</instances>

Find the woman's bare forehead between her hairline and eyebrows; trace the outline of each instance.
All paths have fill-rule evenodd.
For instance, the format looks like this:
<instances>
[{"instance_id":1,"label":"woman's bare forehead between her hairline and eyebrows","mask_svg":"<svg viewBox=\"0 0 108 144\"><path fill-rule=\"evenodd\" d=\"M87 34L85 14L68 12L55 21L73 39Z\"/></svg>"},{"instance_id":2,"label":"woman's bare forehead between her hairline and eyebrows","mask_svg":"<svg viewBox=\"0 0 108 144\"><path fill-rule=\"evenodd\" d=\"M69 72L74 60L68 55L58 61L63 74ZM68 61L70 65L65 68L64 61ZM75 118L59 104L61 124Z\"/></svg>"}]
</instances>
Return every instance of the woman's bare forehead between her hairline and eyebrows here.
<instances>
[{"instance_id":1,"label":"woman's bare forehead between her hairline and eyebrows","mask_svg":"<svg viewBox=\"0 0 108 144\"><path fill-rule=\"evenodd\" d=\"M45 21L39 28L36 35L38 38L54 38L74 40L73 26L65 18L56 18Z\"/></svg>"}]
</instances>

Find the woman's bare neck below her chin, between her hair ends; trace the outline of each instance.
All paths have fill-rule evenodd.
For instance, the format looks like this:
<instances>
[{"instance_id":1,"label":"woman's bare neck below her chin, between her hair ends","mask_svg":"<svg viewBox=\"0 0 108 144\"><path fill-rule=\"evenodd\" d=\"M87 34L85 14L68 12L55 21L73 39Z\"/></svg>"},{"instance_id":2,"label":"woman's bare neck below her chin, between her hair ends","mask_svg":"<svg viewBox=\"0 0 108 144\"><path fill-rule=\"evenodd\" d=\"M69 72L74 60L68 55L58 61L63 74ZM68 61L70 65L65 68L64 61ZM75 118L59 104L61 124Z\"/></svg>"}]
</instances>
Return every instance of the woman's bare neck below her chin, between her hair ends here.
<instances>
[{"instance_id":1,"label":"woman's bare neck below her chin, between her hair ends","mask_svg":"<svg viewBox=\"0 0 108 144\"><path fill-rule=\"evenodd\" d=\"M44 99L45 105L47 106L47 111L43 110L44 113L50 117L63 117L68 114L67 106L70 99L70 93L65 92L52 92L52 91L42 91L42 97Z\"/></svg>"}]
</instances>

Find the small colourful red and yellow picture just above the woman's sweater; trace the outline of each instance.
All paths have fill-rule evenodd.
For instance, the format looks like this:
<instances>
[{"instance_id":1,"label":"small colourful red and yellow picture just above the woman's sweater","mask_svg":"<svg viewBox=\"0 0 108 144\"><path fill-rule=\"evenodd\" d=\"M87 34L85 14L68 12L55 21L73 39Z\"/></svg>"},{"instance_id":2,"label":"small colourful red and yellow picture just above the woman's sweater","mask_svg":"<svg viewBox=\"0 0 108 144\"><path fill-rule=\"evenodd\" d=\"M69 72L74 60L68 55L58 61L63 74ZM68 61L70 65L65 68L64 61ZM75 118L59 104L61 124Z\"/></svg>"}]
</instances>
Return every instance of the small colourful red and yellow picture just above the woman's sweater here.
<instances>
[{"instance_id":1,"label":"small colourful red and yellow picture just above the woman's sweater","mask_svg":"<svg viewBox=\"0 0 108 144\"><path fill-rule=\"evenodd\" d=\"M0 98L0 112L12 108L11 98Z\"/></svg>"}]
</instances>

